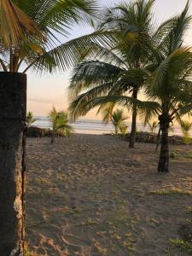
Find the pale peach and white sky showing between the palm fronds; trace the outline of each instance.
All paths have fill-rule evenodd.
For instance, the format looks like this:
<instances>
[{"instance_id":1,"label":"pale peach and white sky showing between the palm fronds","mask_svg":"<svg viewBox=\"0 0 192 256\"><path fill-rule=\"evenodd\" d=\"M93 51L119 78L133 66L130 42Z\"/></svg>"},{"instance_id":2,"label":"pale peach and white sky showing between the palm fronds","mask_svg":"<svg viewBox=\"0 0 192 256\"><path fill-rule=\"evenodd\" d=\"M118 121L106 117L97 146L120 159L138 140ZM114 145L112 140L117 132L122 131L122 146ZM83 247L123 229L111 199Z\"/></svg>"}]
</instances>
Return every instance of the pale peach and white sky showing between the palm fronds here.
<instances>
[{"instance_id":1,"label":"pale peach and white sky showing between the palm fronds","mask_svg":"<svg viewBox=\"0 0 192 256\"><path fill-rule=\"evenodd\" d=\"M113 3L119 2L121 1L106 0L101 2L101 6L113 5ZM185 3L185 0L156 0L154 4L155 20L161 22L172 15L180 13ZM190 13L192 14L192 3ZM74 26L70 37L65 40L77 38L90 32L92 32L90 27ZM191 30L189 30L185 37L185 43L192 44ZM69 84L70 72L69 70L65 73L45 73L43 76L31 72L27 73L27 111L32 111L36 116L47 116L53 105L58 110L67 109L67 86ZM90 111L85 118L100 119L99 116L96 117L96 111Z\"/></svg>"}]
</instances>

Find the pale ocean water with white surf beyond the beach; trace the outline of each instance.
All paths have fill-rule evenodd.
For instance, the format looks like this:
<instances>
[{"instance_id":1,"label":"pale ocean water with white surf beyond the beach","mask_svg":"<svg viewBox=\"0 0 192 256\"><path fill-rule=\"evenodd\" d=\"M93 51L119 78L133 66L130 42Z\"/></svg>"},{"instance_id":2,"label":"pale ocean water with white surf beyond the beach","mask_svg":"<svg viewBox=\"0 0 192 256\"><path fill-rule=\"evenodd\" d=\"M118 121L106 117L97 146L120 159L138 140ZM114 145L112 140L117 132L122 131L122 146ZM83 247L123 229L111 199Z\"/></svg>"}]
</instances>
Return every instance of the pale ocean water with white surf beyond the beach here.
<instances>
[{"instance_id":1,"label":"pale ocean water with white surf beyond the beach","mask_svg":"<svg viewBox=\"0 0 192 256\"><path fill-rule=\"evenodd\" d=\"M44 116L35 117L37 119L32 125L51 129L51 123L49 118ZM105 125L102 123L102 120L95 119L77 119L74 123L71 123L73 126L73 130L76 133L84 133L84 134L107 134L112 133L114 131L112 123L108 123ZM127 122L128 131L131 130L131 122ZM137 131L148 131L148 126L144 127L143 123L137 124ZM179 126L174 125L174 131L170 131L170 135L182 135L182 131ZM192 136L192 132L191 132Z\"/></svg>"}]
</instances>

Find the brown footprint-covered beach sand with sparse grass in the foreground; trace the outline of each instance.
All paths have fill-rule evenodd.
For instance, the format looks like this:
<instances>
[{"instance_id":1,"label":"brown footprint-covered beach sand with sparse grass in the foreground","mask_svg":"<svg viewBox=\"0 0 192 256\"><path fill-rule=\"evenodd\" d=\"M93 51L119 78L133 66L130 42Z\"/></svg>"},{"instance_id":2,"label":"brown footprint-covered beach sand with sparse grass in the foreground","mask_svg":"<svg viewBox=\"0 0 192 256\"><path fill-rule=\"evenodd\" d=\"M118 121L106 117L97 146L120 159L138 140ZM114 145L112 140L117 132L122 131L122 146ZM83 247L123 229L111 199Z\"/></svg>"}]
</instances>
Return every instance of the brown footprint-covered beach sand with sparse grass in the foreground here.
<instances>
[{"instance_id":1,"label":"brown footprint-covered beach sand with sparse grass in the foreground","mask_svg":"<svg viewBox=\"0 0 192 256\"><path fill-rule=\"evenodd\" d=\"M168 174L157 173L154 148L27 138L26 255L189 255L170 240L192 219L192 147L171 147Z\"/></svg>"}]
</instances>

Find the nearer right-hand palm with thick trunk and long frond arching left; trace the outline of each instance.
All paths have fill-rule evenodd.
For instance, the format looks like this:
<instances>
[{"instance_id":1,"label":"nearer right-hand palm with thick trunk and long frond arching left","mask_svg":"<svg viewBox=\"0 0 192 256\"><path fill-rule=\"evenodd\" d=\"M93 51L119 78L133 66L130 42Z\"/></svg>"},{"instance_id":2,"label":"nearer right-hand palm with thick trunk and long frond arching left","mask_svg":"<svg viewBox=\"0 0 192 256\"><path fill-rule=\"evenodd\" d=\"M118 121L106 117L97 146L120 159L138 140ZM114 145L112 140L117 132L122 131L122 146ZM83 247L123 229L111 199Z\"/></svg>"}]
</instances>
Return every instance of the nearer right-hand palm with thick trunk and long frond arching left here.
<instances>
[{"instance_id":1,"label":"nearer right-hand palm with thick trunk and long frond arching left","mask_svg":"<svg viewBox=\"0 0 192 256\"><path fill-rule=\"evenodd\" d=\"M145 80L147 102L114 93L102 96L102 92L101 96L95 98L89 98L89 94L84 94L85 97L79 96L71 105L72 109L78 109L80 106L79 111L86 113L90 108L108 102L125 107L128 104L135 104L137 109L145 113L146 122L154 115L158 116L161 131L158 172L169 172L170 125L174 119L192 113L192 51L191 48L183 46L183 36L191 22L188 11L189 2L181 15L176 15L160 25L153 36L155 47L152 44L148 45L153 55L149 55L151 63L149 61L147 71L144 71L147 76ZM100 89L103 89L102 85Z\"/></svg>"}]
</instances>

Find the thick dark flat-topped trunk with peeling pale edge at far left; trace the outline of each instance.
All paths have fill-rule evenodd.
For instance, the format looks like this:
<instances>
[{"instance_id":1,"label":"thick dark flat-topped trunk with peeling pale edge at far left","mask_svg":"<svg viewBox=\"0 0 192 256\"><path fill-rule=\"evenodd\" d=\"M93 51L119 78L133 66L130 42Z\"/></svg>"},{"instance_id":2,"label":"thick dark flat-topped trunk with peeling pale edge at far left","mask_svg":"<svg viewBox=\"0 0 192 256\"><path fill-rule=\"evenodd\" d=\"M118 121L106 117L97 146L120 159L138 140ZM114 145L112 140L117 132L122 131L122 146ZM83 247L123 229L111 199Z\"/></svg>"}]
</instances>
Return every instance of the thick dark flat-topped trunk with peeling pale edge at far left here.
<instances>
[{"instance_id":1,"label":"thick dark flat-topped trunk with peeling pale edge at far left","mask_svg":"<svg viewBox=\"0 0 192 256\"><path fill-rule=\"evenodd\" d=\"M26 75L0 73L0 255L24 253Z\"/></svg>"}]
</instances>

